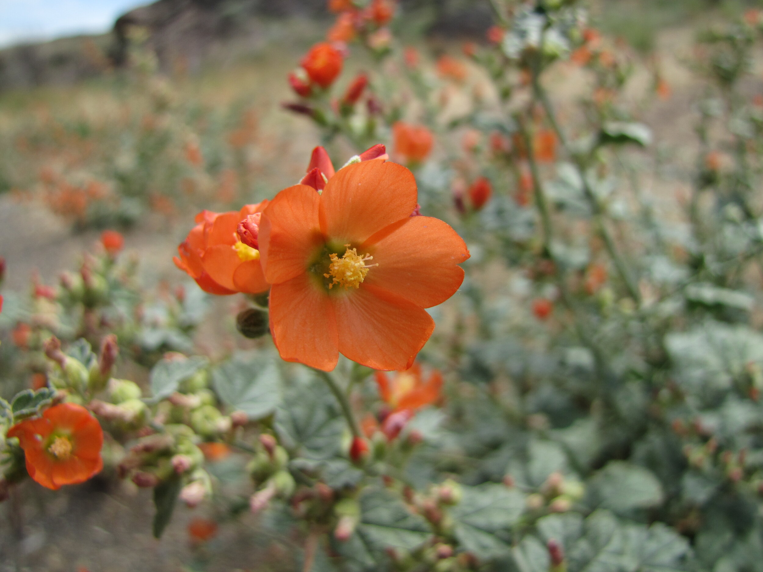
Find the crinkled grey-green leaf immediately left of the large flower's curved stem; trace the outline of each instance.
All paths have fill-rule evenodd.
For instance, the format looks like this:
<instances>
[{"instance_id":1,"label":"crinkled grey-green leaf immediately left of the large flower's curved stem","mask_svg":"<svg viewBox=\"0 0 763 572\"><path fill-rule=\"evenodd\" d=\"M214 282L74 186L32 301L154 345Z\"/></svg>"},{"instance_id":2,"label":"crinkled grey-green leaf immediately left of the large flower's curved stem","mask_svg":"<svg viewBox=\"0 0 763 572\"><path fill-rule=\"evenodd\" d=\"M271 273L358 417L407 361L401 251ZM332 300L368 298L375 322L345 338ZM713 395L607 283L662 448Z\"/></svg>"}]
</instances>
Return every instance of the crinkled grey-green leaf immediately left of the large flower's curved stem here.
<instances>
[{"instance_id":1,"label":"crinkled grey-green leaf immediately left of the large flower's curved stem","mask_svg":"<svg viewBox=\"0 0 763 572\"><path fill-rule=\"evenodd\" d=\"M275 413L278 438L306 458L338 455L344 428L333 396L317 378L288 391Z\"/></svg>"}]
</instances>

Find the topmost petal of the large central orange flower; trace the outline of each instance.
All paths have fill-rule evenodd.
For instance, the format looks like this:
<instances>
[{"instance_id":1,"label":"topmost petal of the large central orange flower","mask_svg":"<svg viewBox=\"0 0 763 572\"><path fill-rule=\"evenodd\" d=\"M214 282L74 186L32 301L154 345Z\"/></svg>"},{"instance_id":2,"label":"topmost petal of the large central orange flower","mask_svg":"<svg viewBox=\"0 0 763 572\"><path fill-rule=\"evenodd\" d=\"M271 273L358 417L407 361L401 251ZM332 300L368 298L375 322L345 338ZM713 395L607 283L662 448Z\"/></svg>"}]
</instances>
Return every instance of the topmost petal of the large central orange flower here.
<instances>
[{"instance_id":1,"label":"topmost petal of the large central orange flower","mask_svg":"<svg viewBox=\"0 0 763 572\"><path fill-rule=\"evenodd\" d=\"M336 172L320 195L320 228L339 243L362 243L417 204L416 179L403 165L366 161Z\"/></svg>"}]
</instances>

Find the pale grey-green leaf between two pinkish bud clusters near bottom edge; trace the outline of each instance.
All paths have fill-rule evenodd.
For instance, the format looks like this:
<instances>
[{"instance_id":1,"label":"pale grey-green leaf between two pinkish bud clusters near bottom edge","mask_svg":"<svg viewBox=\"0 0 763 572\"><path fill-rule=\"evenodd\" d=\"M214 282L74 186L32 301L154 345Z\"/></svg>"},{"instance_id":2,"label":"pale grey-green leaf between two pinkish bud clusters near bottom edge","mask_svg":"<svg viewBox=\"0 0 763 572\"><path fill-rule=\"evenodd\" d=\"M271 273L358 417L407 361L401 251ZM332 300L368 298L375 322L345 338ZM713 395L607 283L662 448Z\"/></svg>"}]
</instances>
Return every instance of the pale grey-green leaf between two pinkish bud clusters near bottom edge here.
<instances>
[{"instance_id":1,"label":"pale grey-green leaf between two pinkish bud clusters near bottom edge","mask_svg":"<svg viewBox=\"0 0 763 572\"><path fill-rule=\"evenodd\" d=\"M461 502L452 510L456 538L480 558L499 558L509 551L507 533L525 509L525 497L500 484L462 487ZM504 534L502 537L496 533Z\"/></svg>"}]
</instances>

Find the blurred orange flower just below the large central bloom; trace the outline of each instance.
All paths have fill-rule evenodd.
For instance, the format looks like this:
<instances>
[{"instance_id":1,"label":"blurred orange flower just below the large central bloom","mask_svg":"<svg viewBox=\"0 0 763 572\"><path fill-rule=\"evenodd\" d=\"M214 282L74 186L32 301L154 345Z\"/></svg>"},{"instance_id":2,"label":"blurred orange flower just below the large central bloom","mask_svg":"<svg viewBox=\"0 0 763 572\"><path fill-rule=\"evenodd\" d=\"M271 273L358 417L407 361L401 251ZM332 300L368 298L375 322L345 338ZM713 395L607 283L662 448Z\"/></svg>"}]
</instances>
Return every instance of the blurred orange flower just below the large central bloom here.
<instances>
[{"instance_id":1,"label":"blurred orange flower just below the large central bloom","mask_svg":"<svg viewBox=\"0 0 763 572\"><path fill-rule=\"evenodd\" d=\"M443 374L434 369L425 380L419 364L405 371L396 371L393 378L384 371L377 371L375 376L379 395L393 412L415 411L435 403L443 388Z\"/></svg>"}]
</instances>

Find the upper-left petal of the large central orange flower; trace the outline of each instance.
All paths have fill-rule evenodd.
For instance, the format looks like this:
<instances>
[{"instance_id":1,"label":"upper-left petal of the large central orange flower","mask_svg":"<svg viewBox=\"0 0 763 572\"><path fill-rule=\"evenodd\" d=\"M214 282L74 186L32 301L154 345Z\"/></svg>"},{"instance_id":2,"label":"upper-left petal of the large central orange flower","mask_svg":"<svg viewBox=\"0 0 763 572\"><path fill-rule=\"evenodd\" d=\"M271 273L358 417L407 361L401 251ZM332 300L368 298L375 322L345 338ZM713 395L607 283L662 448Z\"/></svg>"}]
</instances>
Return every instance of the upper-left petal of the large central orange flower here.
<instances>
[{"instance_id":1,"label":"upper-left petal of the large central orange flower","mask_svg":"<svg viewBox=\"0 0 763 572\"><path fill-rule=\"evenodd\" d=\"M307 185L295 185L275 195L259 223L259 251L265 278L278 284L307 270L323 242L318 225L320 195Z\"/></svg>"}]
</instances>

